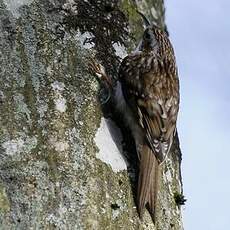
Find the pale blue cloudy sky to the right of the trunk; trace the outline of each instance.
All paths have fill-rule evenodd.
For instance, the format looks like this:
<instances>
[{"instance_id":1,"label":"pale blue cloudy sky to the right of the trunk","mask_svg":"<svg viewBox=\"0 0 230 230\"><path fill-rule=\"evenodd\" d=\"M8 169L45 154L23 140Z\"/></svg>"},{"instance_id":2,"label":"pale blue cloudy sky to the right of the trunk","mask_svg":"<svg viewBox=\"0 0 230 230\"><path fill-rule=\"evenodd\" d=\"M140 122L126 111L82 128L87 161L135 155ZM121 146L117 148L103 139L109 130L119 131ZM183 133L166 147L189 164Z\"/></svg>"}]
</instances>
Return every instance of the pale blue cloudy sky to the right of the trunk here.
<instances>
[{"instance_id":1,"label":"pale blue cloudy sky to the right of the trunk","mask_svg":"<svg viewBox=\"0 0 230 230\"><path fill-rule=\"evenodd\" d=\"M165 0L180 78L185 230L230 229L230 1Z\"/></svg>"}]
</instances>

